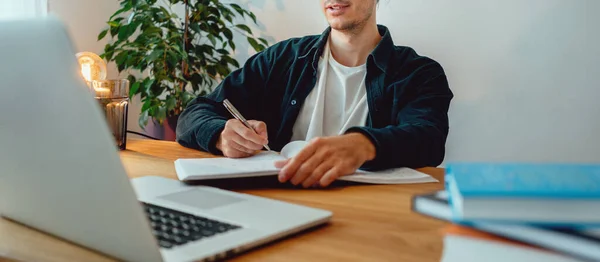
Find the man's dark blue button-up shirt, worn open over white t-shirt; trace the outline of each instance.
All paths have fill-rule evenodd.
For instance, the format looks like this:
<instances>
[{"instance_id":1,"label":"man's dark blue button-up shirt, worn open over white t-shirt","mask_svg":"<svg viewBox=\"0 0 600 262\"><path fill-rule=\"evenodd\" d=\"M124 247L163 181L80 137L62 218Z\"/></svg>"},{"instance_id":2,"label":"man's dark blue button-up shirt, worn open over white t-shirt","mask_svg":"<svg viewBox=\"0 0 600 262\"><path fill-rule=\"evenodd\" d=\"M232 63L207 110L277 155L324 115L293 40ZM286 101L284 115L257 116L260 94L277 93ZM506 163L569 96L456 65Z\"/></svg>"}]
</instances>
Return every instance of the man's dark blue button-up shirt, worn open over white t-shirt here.
<instances>
[{"instance_id":1,"label":"man's dark blue button-up shirt, worn open over white t-shirt","mask_svg":"<svg viewBox=\"0 0 600 262\"><path fill-rule=\"evenodd\" d=\"M362 168L437 166L444 159L453 98L444 70L410 47L395 46L388 29L378 28L382 40L367 58L367 123L348 130L366 135L375 145L376 158ZM212 93L188 105L179 117L177 142L222 154L216 142L232 117L222 105L227 98L247 119L264 121L269 146L281 150L315 87L330 30L281 41L250 57Z\"/></svg>"}]
</instances>

